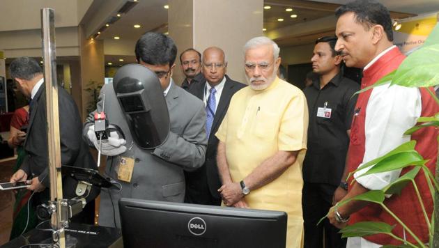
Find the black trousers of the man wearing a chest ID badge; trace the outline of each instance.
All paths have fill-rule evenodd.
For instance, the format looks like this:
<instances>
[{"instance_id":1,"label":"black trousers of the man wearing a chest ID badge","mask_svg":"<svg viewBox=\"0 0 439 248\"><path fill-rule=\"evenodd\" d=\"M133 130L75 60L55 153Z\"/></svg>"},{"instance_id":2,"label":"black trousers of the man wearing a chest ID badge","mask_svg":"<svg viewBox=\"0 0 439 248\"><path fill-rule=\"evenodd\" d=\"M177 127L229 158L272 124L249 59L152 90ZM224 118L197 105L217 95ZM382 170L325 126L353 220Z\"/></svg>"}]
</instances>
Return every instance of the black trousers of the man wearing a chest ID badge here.
<instances>
[{"instance_id":1,"label":"black trousers of the man wearing a chest ID badge","mask_svg":"<svg viewBox=\"0 0 439 248\"><path fill-rule=\"evenodd\" d=\"M334 185L304 182L302 190L302 209L305 228L305 248L344 248L346 239L341 239L339 229L332 226L325 216L332 207L332 196L337 189ZM323 232L325 240L323 240Z\"/></svg>"}]
</instances>

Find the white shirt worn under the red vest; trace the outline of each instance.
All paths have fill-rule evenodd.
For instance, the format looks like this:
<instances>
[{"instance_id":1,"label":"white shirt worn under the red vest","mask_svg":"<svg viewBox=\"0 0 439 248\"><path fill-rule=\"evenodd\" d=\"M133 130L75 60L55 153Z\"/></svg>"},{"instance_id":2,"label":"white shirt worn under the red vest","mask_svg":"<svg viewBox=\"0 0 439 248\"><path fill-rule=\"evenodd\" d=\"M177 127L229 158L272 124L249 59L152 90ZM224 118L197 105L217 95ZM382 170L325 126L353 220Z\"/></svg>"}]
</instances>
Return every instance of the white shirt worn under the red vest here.
<instances>
[{"instance_id":1,"label":"white shirt worn under the red vest","mask_svg":"<svg viewBox=\"0 0 439 248\"><path fill-rule=\"evenodd\" d=\"M393 47L379 54L364 70ZM410 141L410 135L403 135L403 133L417 123L421 111L422 100L418 88L390 86L390 84L373 88L366 108L364 125L366 142L362 164L383 156L390 150ZM371 190L383 189L399 178L401 173L399 169L358 178L370 168L357 171L354 173L354 178L357 183Z\"/></svg>"}]
</instances>

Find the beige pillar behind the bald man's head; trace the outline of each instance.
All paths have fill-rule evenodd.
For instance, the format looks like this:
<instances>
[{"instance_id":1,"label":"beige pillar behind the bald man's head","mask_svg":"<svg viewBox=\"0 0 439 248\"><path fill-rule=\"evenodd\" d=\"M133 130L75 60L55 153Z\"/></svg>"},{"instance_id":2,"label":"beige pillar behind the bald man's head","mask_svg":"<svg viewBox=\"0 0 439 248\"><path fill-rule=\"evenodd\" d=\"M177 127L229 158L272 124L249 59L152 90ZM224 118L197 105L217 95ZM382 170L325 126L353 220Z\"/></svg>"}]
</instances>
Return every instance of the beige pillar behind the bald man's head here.
<instances>
[{"instance_id":1,"label":"beige pillar behind the bald man's head","mask_svg":"<svg viewBox=\"0 0 439 248\"><path fill-rule=\"evenodd\" d=\"M178 56L189 47L199 52L211 46L224 49L227 74L245 82L242 47L250 38L262 36L262 10L263 0L170 0L169 36L176 41ZM178 84L184 79L179 61L173 78Z\"/></svg>"}]
</instances>

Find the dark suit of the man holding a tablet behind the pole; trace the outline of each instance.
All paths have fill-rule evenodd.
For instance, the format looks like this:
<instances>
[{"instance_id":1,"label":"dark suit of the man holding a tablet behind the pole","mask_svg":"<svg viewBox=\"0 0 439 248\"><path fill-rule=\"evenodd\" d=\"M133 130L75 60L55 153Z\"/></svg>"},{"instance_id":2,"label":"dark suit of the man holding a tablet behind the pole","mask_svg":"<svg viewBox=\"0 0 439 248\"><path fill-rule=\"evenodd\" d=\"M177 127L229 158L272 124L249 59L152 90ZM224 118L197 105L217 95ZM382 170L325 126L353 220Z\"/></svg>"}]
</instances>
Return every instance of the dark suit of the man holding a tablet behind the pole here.
<instances>
[{"instance_id":1,"label":"dark suit of the man holding a tablet behind the pole","mask_svg":"<svg viewBox=\"0 0 439 248\"><path fill-rule=\"evenodd\" d=\"M47 146L47 117L45 104L45 85L41 85L38 92L31 100L29 125L27 128L24 150L26 157L21 169L28 179L38 176L40 183L45 185L43 192L35 194L35 204L45 203L49 200L49 175L48 175L48 146ZM98 169L88 146L82 140L82 121L79 111L72 97L63 89L58 89L59 101L59 131L61 146L61 164L89 169ZM71 199L76 196L77 181L70 176L63 176L63 198ZM94 201L99 194L99 189L93 187L87 197L88 203L82 214L75 217L77 222L93 224ZM75 220L74 219L74 220Z\"/></svg>"}]
</instances>

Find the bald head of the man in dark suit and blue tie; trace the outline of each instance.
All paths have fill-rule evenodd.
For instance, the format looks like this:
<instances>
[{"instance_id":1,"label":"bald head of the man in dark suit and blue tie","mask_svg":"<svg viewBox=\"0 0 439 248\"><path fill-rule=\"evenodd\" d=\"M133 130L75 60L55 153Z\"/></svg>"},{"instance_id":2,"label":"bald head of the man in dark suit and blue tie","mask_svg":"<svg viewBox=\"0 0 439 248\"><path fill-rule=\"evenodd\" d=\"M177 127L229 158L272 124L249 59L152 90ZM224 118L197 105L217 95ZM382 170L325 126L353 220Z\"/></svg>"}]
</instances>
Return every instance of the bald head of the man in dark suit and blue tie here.
<instances>
[{"instance_id":1,"label":"bald head of the man in dark suit and blue tie","mask_svg":"<svg viewBox=\"0 0 439 248\"><path fill-rule=\"evenodd\" d=\"M203 75L211 86L219 84L226 74L226 54L219 47L208 47L203 52Z\"/></svg>"}]
</instances>

